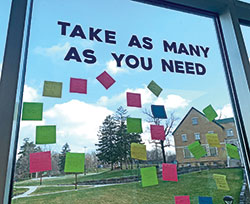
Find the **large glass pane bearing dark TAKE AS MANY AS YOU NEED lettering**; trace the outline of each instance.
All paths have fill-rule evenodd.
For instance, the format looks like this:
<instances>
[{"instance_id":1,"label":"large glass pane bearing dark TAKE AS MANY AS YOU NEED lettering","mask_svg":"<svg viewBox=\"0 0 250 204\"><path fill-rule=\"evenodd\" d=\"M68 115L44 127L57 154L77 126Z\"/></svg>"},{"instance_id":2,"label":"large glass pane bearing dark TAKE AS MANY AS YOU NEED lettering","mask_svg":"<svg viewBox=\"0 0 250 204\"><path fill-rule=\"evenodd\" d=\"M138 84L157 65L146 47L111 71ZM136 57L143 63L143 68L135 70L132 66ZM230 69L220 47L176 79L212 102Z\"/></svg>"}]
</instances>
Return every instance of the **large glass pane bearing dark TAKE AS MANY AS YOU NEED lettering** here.
<instances>
[{"instance_id":1,"label":"large glass pane bearing dark TAKE AS MANY AS YOU NEED lettering","mask_svg":"<svg viewBox=\"0 0 250 204\"><path fill-rule=\"evenodd\" d=\"M240 201L213 18L132 1L35 1L23 96L13 203Z\"/></svg>"}]
</instances>

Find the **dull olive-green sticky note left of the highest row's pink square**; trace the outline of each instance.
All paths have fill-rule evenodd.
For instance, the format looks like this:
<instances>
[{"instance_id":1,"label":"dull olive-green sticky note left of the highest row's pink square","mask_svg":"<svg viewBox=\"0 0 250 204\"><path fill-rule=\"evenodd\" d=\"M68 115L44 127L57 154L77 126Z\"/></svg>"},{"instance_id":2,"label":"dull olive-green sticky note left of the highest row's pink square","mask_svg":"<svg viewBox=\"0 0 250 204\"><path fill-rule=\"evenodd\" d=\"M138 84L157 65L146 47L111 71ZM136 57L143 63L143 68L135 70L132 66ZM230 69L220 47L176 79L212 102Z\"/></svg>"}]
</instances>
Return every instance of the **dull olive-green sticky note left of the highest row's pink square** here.
<instances>
[{"instance_id":1,"label":"dull olive-green sticky note left of the highest row's pink square","mask_svg":"<svg viewBox=\"0 0 250 204\"><path fill-rule=\"evenodd\" d=\"M62 82L44 81L43 96L62 97Z\"/></svg>"}]
</instances>

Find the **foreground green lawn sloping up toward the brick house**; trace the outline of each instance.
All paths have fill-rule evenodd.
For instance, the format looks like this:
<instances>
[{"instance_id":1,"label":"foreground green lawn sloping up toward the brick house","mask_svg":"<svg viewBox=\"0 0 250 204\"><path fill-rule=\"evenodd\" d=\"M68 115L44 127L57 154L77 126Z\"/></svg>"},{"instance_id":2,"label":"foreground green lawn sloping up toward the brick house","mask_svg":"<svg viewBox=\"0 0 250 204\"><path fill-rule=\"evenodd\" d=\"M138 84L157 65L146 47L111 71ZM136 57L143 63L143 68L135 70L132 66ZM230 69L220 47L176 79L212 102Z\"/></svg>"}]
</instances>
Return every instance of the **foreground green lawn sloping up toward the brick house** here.
<instances>
[{"instance_id":1,"label":"foreground green lawn sloping up toward the brick house","mask_svg":"<svg viewBox=\"0 0 250 204\"><path fill-rule=\"evenodd\" d=\"M213 174L224 174L230 191L217 190ZM223 203L225 195L235 198L239 203L239 194L243 183L241 169L216 169L179 176L178 182L166 182L159 179L159 185L142 188L141 183L129 183L99 188L80 189L67 193L51 194L13 200L13 204L173 204L174 196L189 195L192 204L198 204L198 196L211 196L213 203Z\"/></svg>"}]
</instances>

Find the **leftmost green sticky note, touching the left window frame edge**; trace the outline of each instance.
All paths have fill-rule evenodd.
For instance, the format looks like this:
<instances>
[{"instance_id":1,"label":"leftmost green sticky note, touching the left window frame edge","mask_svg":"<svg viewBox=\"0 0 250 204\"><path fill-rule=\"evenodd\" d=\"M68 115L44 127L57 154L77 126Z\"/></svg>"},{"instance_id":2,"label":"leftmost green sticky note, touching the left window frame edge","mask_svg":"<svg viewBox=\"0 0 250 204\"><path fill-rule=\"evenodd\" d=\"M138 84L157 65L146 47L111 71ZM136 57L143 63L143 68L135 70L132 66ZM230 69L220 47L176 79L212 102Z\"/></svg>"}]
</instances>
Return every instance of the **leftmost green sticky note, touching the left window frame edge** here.
<instances>
[{"instance_id":1,"label":"leftmost green sticky note, touching the left window frame edge","mask_svg":"<svg viewBox=\"0 0 250 204\"><path fill-rule=\"evenodd\" d=\"M42 103L23 103L22 120L42 120L43 104Z\"/></svg>"}]
</instances>

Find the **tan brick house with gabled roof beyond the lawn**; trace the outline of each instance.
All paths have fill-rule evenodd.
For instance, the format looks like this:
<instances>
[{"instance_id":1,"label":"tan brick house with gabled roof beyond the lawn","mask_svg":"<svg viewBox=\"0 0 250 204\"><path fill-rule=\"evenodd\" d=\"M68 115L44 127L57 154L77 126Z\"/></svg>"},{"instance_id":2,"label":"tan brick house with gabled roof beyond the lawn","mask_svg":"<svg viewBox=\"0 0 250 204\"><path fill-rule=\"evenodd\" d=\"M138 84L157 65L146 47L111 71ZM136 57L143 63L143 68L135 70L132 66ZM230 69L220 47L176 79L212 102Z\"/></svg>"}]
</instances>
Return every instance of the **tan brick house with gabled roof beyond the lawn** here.
<instances>
[{"instance_id":1,"label":"tan brick house with gabled roof beyond the lawn","mask_svg":"<svg viewBox=\"0 0 250 204\"><path fill-rule=\"evenodd\" d=\"M220 148L209 147L206 134L218 134ZM173 132L176 160L178 167L187 166L240 166L240 161L227 157L225 144L234 144L239 148L234 118L225 118L210 122L203 113L191 108ZM199 140L207 155L195 159L188 150L188 145Z\"/></svg>"}]
</instances>

